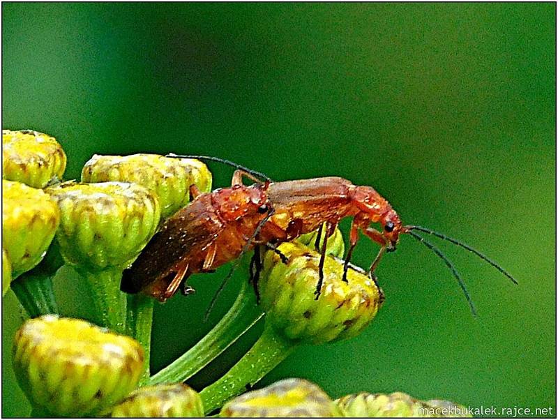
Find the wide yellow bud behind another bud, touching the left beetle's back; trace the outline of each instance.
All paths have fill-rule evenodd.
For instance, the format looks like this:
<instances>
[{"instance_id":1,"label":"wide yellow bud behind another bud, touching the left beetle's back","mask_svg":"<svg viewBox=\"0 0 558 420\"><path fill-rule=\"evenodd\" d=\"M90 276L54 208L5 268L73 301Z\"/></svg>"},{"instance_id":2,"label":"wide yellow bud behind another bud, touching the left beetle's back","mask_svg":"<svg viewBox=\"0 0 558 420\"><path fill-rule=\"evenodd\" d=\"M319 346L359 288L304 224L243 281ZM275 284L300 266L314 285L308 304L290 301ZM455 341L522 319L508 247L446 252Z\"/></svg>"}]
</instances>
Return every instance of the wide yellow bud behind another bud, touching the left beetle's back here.
<instances>
[{"instance_id":1,"label":"wide yellow bud behind another bud, touching the left beetle's back","mask_svg":"<svg viewBox=\"0 0 558 420\"><path fill-rule=\"evenodd\" d=\"M82 182L105 181L133 182L153 190L159 198L163 218L188 204L190 185L196 184L202 193L211 190L211 173L199 160L144 153L93 155L82 170Z\"/></svg>"}]
</instances>

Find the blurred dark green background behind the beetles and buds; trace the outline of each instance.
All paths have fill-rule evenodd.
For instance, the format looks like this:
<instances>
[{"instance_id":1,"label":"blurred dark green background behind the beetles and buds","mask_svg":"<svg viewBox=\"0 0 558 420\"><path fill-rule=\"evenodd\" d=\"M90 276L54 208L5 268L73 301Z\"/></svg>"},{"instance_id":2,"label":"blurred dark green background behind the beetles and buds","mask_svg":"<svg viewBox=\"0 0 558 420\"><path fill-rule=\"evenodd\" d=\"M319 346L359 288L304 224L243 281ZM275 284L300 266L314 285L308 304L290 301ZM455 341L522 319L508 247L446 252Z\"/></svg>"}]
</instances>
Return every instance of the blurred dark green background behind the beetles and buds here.
<instances>
[{"instance_id":1,"label":"blurred dark green background behind the beetles and buds","mask_svg":"<svg viewBox=\"0 0 558 420\"><path fill-rule=\"evenodd\" d=\"M332 396L405 391L556 414L555 4L3 3L3 128L54 135L67 178L93 153L204 153L279 180L338 175L374 186L405 223L448 243L472 317L442 261L409 237L380 264L386 303L361 336L296 351L262 384L306 377ZM232 170L210 165L215 186ZM347 232L348 221L342 224ZM367 239L354 262L368 267ZM154 370L201 338L228 267L158 305ZM88 316L80 280L56 287ZM3 299L3 415L29 405L10 366L23 320ZM199 373L223 373L255 331Z\"/></svg>"}]
</instances>

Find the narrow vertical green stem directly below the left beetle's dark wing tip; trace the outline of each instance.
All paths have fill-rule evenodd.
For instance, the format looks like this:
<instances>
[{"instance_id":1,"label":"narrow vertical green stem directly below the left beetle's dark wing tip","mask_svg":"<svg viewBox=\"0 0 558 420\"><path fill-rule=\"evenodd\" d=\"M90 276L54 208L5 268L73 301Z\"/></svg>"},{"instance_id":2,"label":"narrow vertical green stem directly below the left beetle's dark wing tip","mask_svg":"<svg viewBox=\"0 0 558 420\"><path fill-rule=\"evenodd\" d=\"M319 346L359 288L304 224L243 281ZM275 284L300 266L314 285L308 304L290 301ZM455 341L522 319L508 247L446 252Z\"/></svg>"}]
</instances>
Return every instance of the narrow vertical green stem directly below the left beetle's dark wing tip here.
<instances>
[{"instance_id":1,"label":"narrow vertical green stem directly below the left beetle's dark wing tip","mask_svg":"<svg viewBox=\"0 0 558 420\"><path fill-rule=\"evenodd\" d=\"M153 302L152 298L144 294L128 294L126 334L139 341L144 349L144 373L140 377L140 386L149 380Z\"/></svg>"}]
</instances>

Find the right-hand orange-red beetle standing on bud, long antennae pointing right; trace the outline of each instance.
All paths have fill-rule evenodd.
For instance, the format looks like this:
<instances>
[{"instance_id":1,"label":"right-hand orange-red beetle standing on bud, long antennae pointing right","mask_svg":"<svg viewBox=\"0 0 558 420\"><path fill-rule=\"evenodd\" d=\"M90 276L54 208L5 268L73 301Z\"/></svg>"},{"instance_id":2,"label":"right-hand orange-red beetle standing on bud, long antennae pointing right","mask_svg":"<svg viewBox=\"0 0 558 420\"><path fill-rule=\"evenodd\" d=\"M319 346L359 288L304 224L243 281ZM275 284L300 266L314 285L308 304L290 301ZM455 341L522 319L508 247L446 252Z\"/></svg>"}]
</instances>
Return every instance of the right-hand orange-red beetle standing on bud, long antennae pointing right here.
<instances>
[{"instance_id":1,"label":"right-hand orange-red beetle standing on bud, long antennae pointing right","mask_svg":"<svg viewBox=\"0 0 558 420\"><path fill-rule=\"evenodd\" d=\"M168 157L213 160L232 165L236 168L241 167L236 163L232 163L230 160L213 156L178 156L170 154ZM273 214L266 220L261 231L257 234L258 243L290 241L301 234L319 229L316 241L316 246L318 246L322 234L322 225L326 223L326 232L321 249L322 260L319 267L320 278L315 292L316 299L318 299L322 287L323 262L327 238L331 236L339 221L349 216L353 216L353 221L349 235L349 248L347 250L347 256L345 257L344 280L346 280L347 268L349 267L354 247L359 239L359 230L361 230L365 236L369 237L380 246L377 256L370 265L369 275L372 280L375 280L374 271L384 253L395 250L401 234L409 234L409 236L423 243L424 246L432 250L433 253L444 261L444 264L451 270L455 279L458 280L472 313L476 314L474 303L469 292L467 292L465 281L462 279L457 269L455 269L453 263L448 260L442 251L416 233L424 232L474 253L474 255L481 258L481 260L495 267L513 283L518 284L517 280L500 267L499 264L490 260L490 258L483 255L483 253L480 253L466 243L448 237L445 234L435 232L427 227L403 225L398 213L396 213L389 202L384 199L382 195L379 195L372 187L355 186L347 179L339 177L273 182L261 172L248 170L246 167L241 168L247 173L252 174L252 177L250 177L251 179L261 177L265 179L266 185L269 183L267 193L269 201L273 206ZM379 223L379 225L382 226L382 230L371 227L370 225L372 223ZM259 255L257 258L259 259ZM257 261L255 265L258 265ZM255 276L257 276L257 273ZM257 282L257 277L255 278L255 282Z\"/></svg>"}]
</instances>

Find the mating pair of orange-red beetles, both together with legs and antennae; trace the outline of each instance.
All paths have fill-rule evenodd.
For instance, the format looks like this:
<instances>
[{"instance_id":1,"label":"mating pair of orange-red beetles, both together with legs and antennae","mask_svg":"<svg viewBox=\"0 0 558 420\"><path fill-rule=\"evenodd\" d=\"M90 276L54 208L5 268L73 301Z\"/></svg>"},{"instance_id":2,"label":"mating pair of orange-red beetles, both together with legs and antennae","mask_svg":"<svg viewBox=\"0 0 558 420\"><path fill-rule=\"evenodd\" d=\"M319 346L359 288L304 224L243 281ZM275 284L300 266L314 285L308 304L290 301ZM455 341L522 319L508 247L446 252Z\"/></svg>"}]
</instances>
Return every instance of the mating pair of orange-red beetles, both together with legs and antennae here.
<instances>
[{"instance_id":1,"label":"mating pair of orange-red beetles, both together with legs and antennae","mask_svg":"<svg viewBox=\"0 0 558 420\"><path fill-rule=\"evenodd\" d=\"M317 299L322 287L327 238L333 234L342 218L350 216L353 221L345 257L345 275L359 239L359 230L381 246L370 266L372 278L382 255L395 250L400 234L409 234L430 248L451 269L474 313L472 300L458 271L441 251L418 235L418 231L469 250L517 283L502 267L467 244L426 227L402 225L389 202L372 187L355 186L339 177L271 182L264 174L250 171L229 160L211 156L169 156L216 160L241 170L234 173L232 188L223 188L199 197L192 190L195 195L193 202L167 219L140 257L130 269L124 271L121 289L125 292L141 291L160 301L171 297L179 286L184 294L188 294L193 290L186 287L183 279L191 273L213 271L257 245L266 244L276 249L276 244L291 241L316 229L319 229L318 244L322 225L326 223L320 278L315 293ZM263 177L266 182L243 186L243 176L258 182L257 177ZM372 227L373 223L378 223L381 230ZM252 278L255 286L259 263L258 252L252 260L256 266L255 278Z\"/></svg>"}]
</instances>

